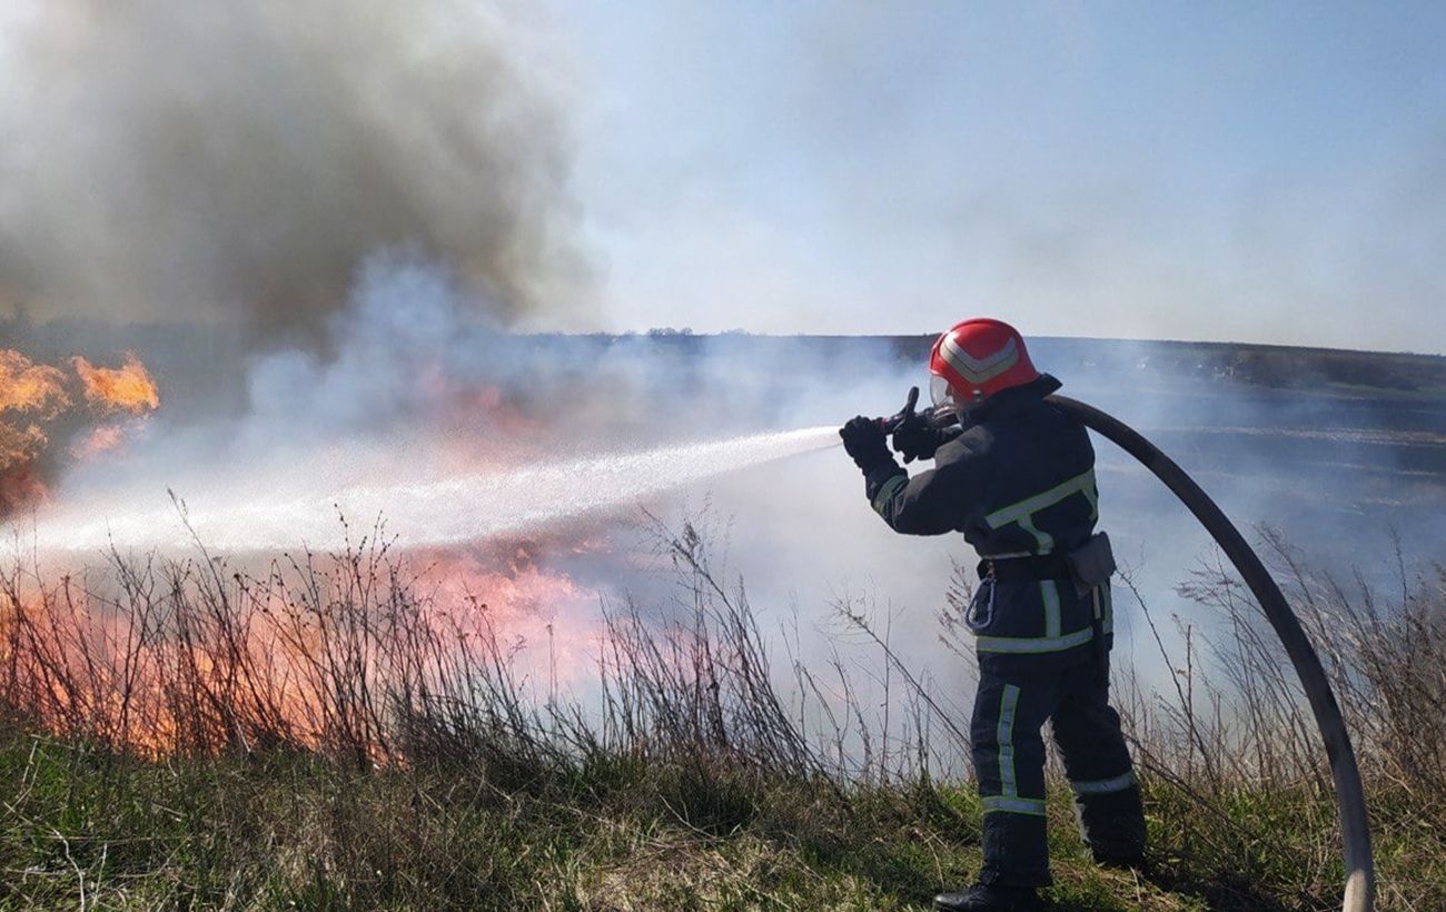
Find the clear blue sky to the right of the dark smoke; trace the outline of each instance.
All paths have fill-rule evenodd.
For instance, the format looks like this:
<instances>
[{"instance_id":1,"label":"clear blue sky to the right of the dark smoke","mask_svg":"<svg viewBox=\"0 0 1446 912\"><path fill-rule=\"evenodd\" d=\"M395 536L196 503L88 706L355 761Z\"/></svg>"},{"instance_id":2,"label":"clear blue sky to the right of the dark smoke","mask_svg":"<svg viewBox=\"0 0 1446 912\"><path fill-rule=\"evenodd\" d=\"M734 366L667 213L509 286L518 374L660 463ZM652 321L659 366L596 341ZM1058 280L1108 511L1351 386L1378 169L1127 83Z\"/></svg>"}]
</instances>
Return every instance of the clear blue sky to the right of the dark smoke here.
<instances>
[{"instance_id":1,"label":"clear blue sky to the right of the dark smoke","mask_svg":"<svg viewBox=\"0 0 1446 912\"><path fill-rule=\"evenodd\" d=\"M1446 4L551 13L609 328L1446 353Z\"/></svg>"}]
</instances>

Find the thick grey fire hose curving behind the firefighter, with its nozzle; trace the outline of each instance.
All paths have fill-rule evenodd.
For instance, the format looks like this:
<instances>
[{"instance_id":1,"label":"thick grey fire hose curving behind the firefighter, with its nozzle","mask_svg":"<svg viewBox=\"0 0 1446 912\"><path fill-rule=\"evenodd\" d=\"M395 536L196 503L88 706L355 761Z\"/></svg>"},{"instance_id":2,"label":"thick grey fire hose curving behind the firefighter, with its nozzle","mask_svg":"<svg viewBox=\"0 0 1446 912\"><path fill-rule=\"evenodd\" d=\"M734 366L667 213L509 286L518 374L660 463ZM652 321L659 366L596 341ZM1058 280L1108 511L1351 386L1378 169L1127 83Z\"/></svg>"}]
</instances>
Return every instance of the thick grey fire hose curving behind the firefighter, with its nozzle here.
<instances>
[{"instance_id":1,"label":"thick grey fire hose curving behind the firefighter, with its nozzle","mask_svg":"<svg viewBox=\"0 0 1446 912\"><path fill-rule=\"evenodd\" d=\"M897 429L904 421L914 419L914 405L918 400L918 389L910 392L908 405L894 418L884 419L889 429ZM1048 396L1047 402L1057 409L1074 416L1086 428L1108 438L1121 449L1135 457L1141 465L1148 468L1165 487L1180 499L1180 503L1194 515L1194 517L1210 533L1210 538L1220 546L1225 556L1235 565L1236 572L1249 587L1255 600L1265 611L1271 627L1290 663L1296 668L1301 689L1310 702L1310 710L1316 717L1316 727L1320 728L1320 739L1326 746L1326 757L1330 762L1330 776L1336 791L1336 811L1340 815L1340 840L1345 856L1346 883L1342 899L1342 912L1369 912L1375 898L1375 869L1371 860L1371 824L1365 811L1365 786L1361 783L1361 770L1356 766L1355 750L1351 747L1351 734L1346 731L1345 718L1340 715L1340 705L1330 689L1320 656L1300 627L1300 620L1291 611L1285 595L1280 591L1274 577L1265 569L1259 555L1245 541L1235 523L1220 512L1210 496L1196 484L1174 460L1161 452L1154 444L1145 439L1129 425L1100 412L1095 406L1070 399L1067 396ZM943 423L944 415L921 415L930 423ZM951 415L949 416L953 418Z\"/></svg>"}]
</instances>

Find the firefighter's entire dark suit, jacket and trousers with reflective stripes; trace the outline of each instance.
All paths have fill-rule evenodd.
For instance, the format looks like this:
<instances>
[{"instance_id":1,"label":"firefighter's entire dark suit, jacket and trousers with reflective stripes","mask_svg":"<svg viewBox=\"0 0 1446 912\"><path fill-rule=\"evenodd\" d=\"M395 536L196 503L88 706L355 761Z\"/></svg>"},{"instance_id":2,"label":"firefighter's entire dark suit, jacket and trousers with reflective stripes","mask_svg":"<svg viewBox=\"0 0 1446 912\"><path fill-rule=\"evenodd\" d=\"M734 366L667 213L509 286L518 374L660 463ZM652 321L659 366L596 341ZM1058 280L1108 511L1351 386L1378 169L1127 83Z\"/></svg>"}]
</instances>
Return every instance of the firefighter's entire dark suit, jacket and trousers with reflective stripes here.
<instances>
[{"instance_id":1,"label":"firefighter's entire dark suit, jacket and trousers with reflective stripes","mask_svg":"<svg viewBox=\"0 0 1446 912\"><path fill-rule=\"evenodd\" d=\"M980 582L970 610L980 671L970 747L988 885L1050 883L1045 720L1090 848L1132 859L1145 846L1139 786L1109 705L1109 582L1082 594L1067 569L1054 577L1058 559L1006 562L1067 555L1095 532L1095 449L1083 425L1044 400L1058 386L1041 376L991 396L938 447L934 468L912 478L886 454L865 471L873 509L895 530L963 532L982 567L998 562L996 582ZM986 604L980 595L991 593ZM1096 598L1103 643L1095 642Z\"/></svg>"}]
</instances>

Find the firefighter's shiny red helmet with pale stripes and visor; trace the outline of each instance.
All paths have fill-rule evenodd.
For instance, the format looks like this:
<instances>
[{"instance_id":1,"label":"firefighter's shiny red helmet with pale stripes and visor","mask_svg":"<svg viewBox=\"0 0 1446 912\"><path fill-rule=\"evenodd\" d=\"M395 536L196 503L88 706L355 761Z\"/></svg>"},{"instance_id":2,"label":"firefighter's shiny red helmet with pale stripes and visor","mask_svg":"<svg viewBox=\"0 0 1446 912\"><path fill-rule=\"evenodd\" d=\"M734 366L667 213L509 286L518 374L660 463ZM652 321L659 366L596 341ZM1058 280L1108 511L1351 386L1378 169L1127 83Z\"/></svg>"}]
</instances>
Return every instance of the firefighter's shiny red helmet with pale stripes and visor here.
<instances>
[{"instance_id":1,"label":"firefighter's shiny red helmet with pale stripes and visor","mask_svg":"<svg viewBox=\"0 0 1446 912\"><path fill-rule=\"evenodd\" d=\"M998 319L966 319L938 337L928 356L934 405L969 406L1040 376L1024 337Z\"/></svg>"}]
</instances>

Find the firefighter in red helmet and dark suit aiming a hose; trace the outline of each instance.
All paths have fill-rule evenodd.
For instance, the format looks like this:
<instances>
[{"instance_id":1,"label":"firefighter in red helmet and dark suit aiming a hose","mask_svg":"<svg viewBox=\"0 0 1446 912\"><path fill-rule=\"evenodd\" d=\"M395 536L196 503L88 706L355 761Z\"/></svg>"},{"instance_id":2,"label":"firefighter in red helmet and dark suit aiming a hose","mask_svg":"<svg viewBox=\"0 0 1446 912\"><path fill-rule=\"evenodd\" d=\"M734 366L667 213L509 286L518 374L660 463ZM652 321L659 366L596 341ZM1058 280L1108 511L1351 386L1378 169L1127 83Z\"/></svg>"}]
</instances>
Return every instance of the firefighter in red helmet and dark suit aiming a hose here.
<instances>
[{"instance_id":1,"label":"firefighter in red helmet and dark suit aiming a hose","mask_svg":"<svg viewBox=\"0 0 1446 912\"><path fill-rule=\"evenodd\" d=\"M962 532L980 558L966 621L979 661L970 739L983 869L973 886L937 896L936 909L1035 909L1050 885L1045 720L1095 860L1144 860L1139 786L1109 705L1115 564L1095 532L1095 451L1084 426L1045 402L1060 382L1034 369L1008 324L960 322L934 343L930 373L934 405L950 406L959 425L905 419L894 448L934 468L910 477L878 419L855 418L839 435L895 532Z\"/></svg>"}]
</instances>

